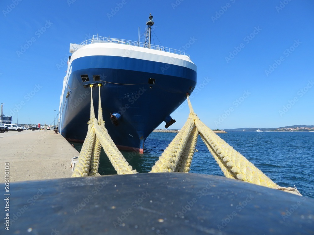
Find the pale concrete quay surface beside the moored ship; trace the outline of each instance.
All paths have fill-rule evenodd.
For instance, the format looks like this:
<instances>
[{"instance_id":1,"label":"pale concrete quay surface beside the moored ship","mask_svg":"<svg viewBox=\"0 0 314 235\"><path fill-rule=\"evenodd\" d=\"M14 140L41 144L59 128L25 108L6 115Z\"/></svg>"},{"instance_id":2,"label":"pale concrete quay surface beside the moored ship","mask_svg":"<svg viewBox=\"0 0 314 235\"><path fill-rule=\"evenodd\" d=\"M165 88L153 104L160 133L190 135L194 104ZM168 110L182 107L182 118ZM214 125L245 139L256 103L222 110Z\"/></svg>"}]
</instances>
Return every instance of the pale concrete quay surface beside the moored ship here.
<instances>
[{"instance_id":1,"label":"pale concrete quay surface beside the moored ship","mask_svg":"<svg viewBox=\"0 0 314 235\"><path fill-rule=\"evenodd\" d=\"M43 130L0 133L0 183L9 163L10 182L71 177L79 153L60 134Z\"/></svg>"}]
</instances>

